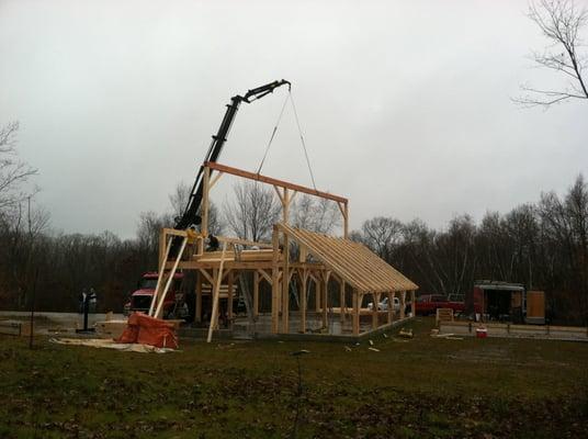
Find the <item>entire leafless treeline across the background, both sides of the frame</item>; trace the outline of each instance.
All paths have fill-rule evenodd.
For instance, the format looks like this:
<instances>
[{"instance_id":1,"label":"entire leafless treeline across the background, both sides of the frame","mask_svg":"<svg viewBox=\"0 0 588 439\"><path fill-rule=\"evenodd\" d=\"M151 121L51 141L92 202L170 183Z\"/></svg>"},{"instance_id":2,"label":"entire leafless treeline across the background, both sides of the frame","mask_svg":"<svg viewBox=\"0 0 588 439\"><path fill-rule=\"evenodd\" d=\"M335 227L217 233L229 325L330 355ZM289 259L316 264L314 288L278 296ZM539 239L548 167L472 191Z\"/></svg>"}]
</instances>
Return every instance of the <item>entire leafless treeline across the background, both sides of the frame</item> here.
<instances>
[{"instance_id":1,"label":"entire leafless treeline across the background, both sides of the frame","mask_svg":"<svg viewBox=\"0 0 588 439\"><path fill-rule=\"evenodd\" d=\"M16 159L16 130L0 130L0 308L29 309L34 295L38 309L76 311L80 292L93 288L100 311L121 311L140 274L157 269L159 230L182 212L190 187L178 184L169 213L140 214L133 239L110 232L57 234L35 205L35 191L26 189L36 170ZM270 240L281 216L271 188L241 182L234 195L212 206L211 232ZM340 226L340 215L332 203L299 195L291 222L328 234ZM464 294L476 280L520 282L546 292L552 319L588 324L588 187L581 176L563 196L544 193L507 214L488 212L479 223L463 215L432 229L419 219L374 217L351 237L420 292Z\"/></svg>"}]
</instances>

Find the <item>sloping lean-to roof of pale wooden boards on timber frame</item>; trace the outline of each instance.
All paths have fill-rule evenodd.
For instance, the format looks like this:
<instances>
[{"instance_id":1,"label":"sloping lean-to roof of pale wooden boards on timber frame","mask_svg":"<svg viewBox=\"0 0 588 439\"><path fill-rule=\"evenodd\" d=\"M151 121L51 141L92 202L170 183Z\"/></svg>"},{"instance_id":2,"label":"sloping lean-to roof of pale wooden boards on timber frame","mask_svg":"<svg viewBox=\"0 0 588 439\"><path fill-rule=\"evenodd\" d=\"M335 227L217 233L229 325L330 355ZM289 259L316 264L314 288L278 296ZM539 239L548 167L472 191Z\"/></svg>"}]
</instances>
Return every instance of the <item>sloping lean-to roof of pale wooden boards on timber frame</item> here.
<instances>
[{"instance_id":1,"label":"sloping lean-to roof of pale wooden boards on timber frame","mask_svg":"<svg viewBox=\"0 0 588 439\"><path fill-rule=\"evenodd\" d=\"M291 238L307 247L328 269L362 292L412 291L418 286L364 245L278 224Z\"/></svg>"}]
</instances>

